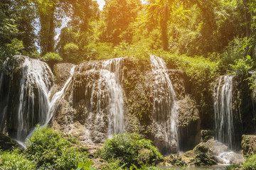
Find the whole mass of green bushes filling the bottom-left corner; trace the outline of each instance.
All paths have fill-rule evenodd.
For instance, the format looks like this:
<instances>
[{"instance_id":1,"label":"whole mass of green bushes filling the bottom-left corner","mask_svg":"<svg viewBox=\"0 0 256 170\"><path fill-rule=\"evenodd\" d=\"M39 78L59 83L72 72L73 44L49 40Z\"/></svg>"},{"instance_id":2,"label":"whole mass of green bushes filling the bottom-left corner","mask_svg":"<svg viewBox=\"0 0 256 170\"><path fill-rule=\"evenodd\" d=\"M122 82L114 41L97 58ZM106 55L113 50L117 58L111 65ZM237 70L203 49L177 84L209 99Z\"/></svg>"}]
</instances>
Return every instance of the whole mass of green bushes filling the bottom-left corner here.
<instances>
[{"instance_id":1,"label":"whole mass of green bushes filling the bottom-left corner","mask_svg":"<svg viewBox=\"0 0 256 170\"><path fill-rule=\"evenodd\" d=\"M69 142L71 141L71 142ZM11 152L0 153L0 167L4 169L85 169L92 170L87 153L73 147L73 138L66 139L51 128L38 127L27 140L23 151L14 148Z\"/></svg>"}]
</instances>

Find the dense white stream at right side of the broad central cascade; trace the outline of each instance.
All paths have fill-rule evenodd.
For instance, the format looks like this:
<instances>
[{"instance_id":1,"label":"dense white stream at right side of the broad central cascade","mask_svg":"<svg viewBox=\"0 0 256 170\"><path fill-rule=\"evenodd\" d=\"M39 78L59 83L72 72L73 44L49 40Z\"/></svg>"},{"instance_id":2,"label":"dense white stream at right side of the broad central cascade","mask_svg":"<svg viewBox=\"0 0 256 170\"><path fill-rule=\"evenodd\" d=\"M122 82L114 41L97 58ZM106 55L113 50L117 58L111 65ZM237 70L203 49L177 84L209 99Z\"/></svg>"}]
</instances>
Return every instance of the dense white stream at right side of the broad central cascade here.
<instances>
[{"instance_id":1,"label":"dense white stream at right side of the broad central cascade","mask_svg":"<svg viewBox=\"0 0 256 170\"><path fill-rule=\"evenodd\" d=\"M114 133L124 132L124 99L121 86L123 66L123 58L116 58L102 62L100 67L94 64L92 70L90 70L95 72L99 69L100 77L98 82L87 89L86 94L89 93L88 91L92 91L90 97L91 108L95 108L93 96L97 94L95 125L98 127L102 127L103 125L100 125L100 123L104 122L102 111L104 103L102 101L108 103L108 137L111 137ZM90 118L92 118L92 115L89 115ZM91 124L89 126L92 127Z\"/></svg>"}]
</instances>

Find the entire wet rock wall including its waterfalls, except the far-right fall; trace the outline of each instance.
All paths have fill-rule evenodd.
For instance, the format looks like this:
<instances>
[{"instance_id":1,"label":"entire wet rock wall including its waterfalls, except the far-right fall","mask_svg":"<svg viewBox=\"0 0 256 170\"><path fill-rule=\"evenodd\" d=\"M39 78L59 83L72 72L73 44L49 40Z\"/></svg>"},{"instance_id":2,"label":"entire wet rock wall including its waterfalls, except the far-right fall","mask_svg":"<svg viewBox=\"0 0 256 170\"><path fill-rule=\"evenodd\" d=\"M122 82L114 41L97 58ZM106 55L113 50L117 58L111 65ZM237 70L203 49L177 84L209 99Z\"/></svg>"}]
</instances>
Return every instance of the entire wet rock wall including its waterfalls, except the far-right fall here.
<instances>
[{"instance_id":1,"label":"entire wet rock wall including its waterfalls, except the far-right fall","mask_svg":"<svg viewBox=\"0 0 256 170\"><path fill-rule=\"evenodd\" d=\"M5 80L1 111L8 106L0 115L1 131L23 137L37 123L49 121L55 130L80 137L85 144L102 143L114 133L128 131L152 140L163 153L188 143L191 148L200 121L186 74L154 59L155 65L132 58L55 64L53 77L46 63L21 57L12 79L0 77ZM171 117L174 112L177 116Z\"/></svg>"}]
</instances>

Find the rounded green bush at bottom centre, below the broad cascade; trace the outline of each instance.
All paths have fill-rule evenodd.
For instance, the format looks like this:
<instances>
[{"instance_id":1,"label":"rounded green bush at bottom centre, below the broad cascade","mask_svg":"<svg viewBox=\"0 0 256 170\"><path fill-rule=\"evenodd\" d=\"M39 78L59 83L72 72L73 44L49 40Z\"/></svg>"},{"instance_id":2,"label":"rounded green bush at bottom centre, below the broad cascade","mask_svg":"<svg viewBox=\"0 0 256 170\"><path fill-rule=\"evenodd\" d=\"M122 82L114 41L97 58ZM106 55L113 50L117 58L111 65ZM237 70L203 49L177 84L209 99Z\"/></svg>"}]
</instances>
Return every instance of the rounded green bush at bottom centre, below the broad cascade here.
<instances>
[{"instance_id":1,"label":"rounded green bush at bottom centre, below the broad cascade","mask_svg":"<svg viewBox=\"0 0 256 170\"><path fill-rule=\"evenodd\" d=\"M151 140L142 139L135 133L113 135L105 142L102 157L108 162L119 159L119 165L125 164L127 168L132 164L140 167L143 164L151 165L163 160Z\"/></svg>"}]
</instances>

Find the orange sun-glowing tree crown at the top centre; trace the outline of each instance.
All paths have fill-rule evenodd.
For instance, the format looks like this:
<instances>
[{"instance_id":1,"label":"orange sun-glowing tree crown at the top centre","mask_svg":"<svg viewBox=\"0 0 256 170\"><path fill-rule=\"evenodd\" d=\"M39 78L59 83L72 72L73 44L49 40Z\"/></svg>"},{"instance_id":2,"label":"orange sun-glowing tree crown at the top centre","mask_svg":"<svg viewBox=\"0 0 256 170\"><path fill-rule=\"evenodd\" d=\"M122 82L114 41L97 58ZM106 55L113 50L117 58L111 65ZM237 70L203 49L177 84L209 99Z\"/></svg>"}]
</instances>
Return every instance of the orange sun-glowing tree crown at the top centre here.
<instances>
[{"instance_id":1,"label":"orange sun-glowing tree crown at the top centre","mask_svg":"<svg viewBox=\"0 0 256 170\"><path fill-rule=\"evenodd\" d=\"M101 35L102 42L117 45L122 40L132 42L131 24L142 8L140 0L106 0L103 8L103 20L106 27Z\"/></svg>"}]
</instances>

